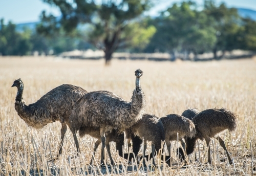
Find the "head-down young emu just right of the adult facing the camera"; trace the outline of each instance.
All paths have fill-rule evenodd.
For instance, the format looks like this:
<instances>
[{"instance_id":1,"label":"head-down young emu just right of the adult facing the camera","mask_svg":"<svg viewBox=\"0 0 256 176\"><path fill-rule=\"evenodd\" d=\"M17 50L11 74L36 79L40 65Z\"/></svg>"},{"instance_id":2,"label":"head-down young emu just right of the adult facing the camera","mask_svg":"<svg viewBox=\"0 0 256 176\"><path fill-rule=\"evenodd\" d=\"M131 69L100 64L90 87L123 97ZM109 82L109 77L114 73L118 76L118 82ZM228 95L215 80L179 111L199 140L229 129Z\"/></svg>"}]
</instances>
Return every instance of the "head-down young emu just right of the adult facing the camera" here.
<instances>
[{"instance_id":1,"label":"head-down young emu just right of the adult facing the camera","mask_svg":"<svg viewBox=\"0 0 256 176\"><path fill-rule=\"evenodd\" d=\"M144 114L142 116L142 119L137 121L136 124L131 126L129 129L125 129L125 134L126 134L126 138L128 139L128 144L130 144L131 139L133 141L133 152L136 158L139 152L138 150L139 146L142 143L142 139L144 139L143 159L145 157L145 151L147 146L146 141L152 142L151 158L153 158L153 164L155 165L154 156L156 155L156 151L159 153L159 151L161 150L162 142L164 142L164 139L165 139L164 127L160 119L155 115ZM136 138L134 138L135 136L138 136L140 140L135 141L136 140ZM124 158L128 159L128 156L126 153L124 155ZM138 163L138 158L137 158L137 163ZM145 165L144 160L143 160L143 164Z\"/></svg>"}]
</instances>

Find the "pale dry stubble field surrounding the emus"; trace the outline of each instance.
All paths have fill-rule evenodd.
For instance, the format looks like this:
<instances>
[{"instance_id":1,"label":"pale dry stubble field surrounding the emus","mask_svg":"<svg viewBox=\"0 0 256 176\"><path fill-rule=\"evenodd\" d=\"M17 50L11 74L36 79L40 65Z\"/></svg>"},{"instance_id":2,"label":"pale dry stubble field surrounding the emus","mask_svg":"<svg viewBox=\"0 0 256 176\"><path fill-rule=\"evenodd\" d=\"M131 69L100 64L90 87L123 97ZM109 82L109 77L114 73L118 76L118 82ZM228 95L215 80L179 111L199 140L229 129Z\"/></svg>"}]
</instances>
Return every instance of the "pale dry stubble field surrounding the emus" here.
<instances>
[{"instance_id":1,"label":"pale dry stubble field surrounding the emus","mask_svg":"<svg viewBox=\"0 0 256 176\"><path fill-rule=\"evenodd\" d=\"M74 157L76 149L69 129L62 157L52 162L50 160L58 150L61 124L54 122L35 130L27 126L14 109L17 89L11 85L18 78L24 82L23 98L27 104L34 103L63 83L78 85L87 91L108 90L130 100L135 89L134 72L138 68L144 73L141 86L146 95L146 113L163 117L181 114L189 107L199 111L225 107L238 115L237 129L221 135L233 165L228 164L218 141L212 139L211 165L206 164L206 143L199 141L196 147L199 161L194 161L194 152L189 165L184 167L184 162L177 162L175 151L180 144L174 141L174 160L170 167L158 159L156 168L148 162L148 170L137 169L136 165L133 167L117 155L114 143L111 143L111 149L116 168L98 165L100 147L91 167L89 163L96 140L90 136L80 138L81 156ZM104 60L0 57L0 175L255 175L255 113L256 59L211 62L113 60L109 67L105 67ZM127 144L124 149L127 152ZM148 147L146 152L150 150ZM107 162L110 164L109 158Z\"/></svg>"}]
</instances>

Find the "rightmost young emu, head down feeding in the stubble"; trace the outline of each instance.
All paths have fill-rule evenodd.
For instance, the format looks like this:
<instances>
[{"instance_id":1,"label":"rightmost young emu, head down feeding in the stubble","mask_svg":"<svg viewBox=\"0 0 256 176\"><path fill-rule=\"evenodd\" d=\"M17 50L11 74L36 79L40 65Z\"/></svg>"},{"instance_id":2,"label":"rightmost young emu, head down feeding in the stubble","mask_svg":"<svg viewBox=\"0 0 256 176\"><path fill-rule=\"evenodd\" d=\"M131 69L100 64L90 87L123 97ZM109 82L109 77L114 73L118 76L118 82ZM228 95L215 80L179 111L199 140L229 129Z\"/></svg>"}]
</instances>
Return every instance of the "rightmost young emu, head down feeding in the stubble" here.
<instances>
[{"instance_id":1,"label":"rightmost young emu, head down feeding in the stubble","mask_svg":"<svg viewBox=\"0 0 256 176\"><path fill-rule=\"evenodd\" d=\"M208 163L211 164L210 138L215 137L219 141L222 148L226 151L228 161L231 164L232 160L229 156L224 140L217 134L226 129L229 131L235 130L237 127L237 115L228 111L226 108L206 109L196 115L193 118L193 122L196 125L197 133L193 138L186 138L187 155L190 155L195 150L196 141L198 139L205 139L208 147ZM181 150L181 148L178 149L178 152L180 152L182 159L184 159L184 152Z\"/></svg>"}]
</instances>

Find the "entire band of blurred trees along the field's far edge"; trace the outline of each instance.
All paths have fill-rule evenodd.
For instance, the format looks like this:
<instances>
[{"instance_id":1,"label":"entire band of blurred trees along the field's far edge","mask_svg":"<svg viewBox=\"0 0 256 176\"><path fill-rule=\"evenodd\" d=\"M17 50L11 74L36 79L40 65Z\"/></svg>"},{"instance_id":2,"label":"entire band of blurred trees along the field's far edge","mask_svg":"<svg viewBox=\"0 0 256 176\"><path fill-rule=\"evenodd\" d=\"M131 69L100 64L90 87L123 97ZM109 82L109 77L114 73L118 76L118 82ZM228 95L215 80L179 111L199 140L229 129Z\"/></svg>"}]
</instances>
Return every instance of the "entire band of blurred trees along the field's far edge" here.
<instances>
[{"instance_id":1,"label":"entire band of blurred trees along the field's far edge","mask_svg":"<svg viewBox=\"0 0 256 176\"><path fill-rule=\"evenodd\" d=\"M204 1L202 8L191 1L174 3L157 17L144 13L155 0L42 1L59 8L61 16L43 11L36 29L17 29L2 19L0 54L57 55L99 49L108 64L113 52L167 52L175 60L177 56L188 59L191 53L195 59L208 52L221 59L236 49L256 51L256 21L213 0Z\"/></svg>"}]
</instances>

